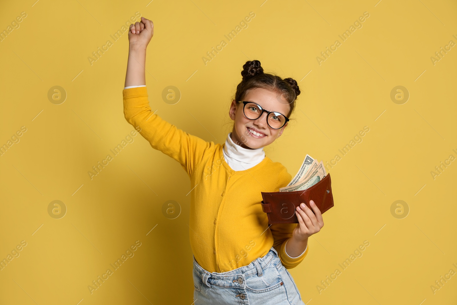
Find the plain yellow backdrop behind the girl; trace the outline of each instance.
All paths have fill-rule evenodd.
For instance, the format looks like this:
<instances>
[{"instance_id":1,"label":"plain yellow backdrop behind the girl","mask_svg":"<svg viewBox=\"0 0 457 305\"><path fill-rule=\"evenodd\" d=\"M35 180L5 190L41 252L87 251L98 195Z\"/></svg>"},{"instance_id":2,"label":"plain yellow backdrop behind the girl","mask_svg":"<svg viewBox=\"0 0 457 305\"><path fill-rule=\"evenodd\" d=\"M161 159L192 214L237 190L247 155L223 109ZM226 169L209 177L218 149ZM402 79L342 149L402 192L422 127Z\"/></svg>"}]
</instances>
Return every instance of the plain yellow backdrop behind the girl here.
<instances>
[{"instance_id":1,"label":"plain yellow backdrop behind the girl","mask_svg":"<svg viewBox=\"0 0 457 305\"><path fill-rule=\"evenodd\" d=\"M329 171L335 207L290 270L305 303L456 304L457 275L430 288L457 272L457 161L430 174L457 157L457 47L435 65L430 59L457 43L455 1L148 2L1 4L1 30L22 11L27 17L0 42L0 144L21 126L27 132L0 156L0 258L21 241L27 246L0 271L0 304L193 302L191 186L181 166L137 135L96 177L87 173L133 130L122 111L127 33L92 65L88 57L137 11L154 22L151 107L178 128L224 143L240 71L253 59L302 91L293 121L265 148L292 177L306 154L326 163L370 128ZM228 42L224 34L251 11L248 27ZM341 42L365 11L362 28ZM319 65L316 57L337 39L340 47ZM221 40L227 45L205 65ZM48 100L53 86L67 93L60 105ZM181 92L175 105L161 98L166 86ZM409 91L406 103L391 100L395 86ZM48 214L53 200L67 207L61 219ZM167 200L181 207L176 219L162 214ZM409 207L403 219L391 214L396 200ZM135 241L135 255L90 294L87 286ZM342 270L363 241L370 243L363 255Z\"/></svg>"}]
</instances>

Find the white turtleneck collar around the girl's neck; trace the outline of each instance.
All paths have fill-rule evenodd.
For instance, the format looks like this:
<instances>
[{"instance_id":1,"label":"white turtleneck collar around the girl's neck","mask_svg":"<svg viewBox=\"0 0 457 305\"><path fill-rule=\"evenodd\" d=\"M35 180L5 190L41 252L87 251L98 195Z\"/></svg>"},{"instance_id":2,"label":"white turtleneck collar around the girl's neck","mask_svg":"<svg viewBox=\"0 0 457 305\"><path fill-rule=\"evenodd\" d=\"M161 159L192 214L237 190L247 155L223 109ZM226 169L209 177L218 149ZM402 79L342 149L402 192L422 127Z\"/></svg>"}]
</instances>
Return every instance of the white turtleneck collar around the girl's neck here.
<instances>
[{"instance_id":1,"label":"white turtleneck collar around the girl's neck","mask_svg":"<svg viewBox=\"0 0 457 305\"><path fill-rule=\"evenodd\" d=\"M265 158L263 147L247 149L235 144L228 133L223 147L224 159L234 171L244 171L256 166Z\"/></svg>"}]
</instances>

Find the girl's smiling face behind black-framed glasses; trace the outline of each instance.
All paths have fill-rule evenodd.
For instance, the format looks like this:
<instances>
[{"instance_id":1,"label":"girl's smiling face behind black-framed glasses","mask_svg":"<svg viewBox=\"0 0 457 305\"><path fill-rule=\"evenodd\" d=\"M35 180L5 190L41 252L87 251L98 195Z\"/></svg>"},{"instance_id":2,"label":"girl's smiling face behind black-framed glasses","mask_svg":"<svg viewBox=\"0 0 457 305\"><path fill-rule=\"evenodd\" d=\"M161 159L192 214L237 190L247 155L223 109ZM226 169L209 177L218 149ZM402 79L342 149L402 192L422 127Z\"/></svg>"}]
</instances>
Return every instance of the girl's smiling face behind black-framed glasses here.
<instances>
[{"instance_id":1,"label":"girl's smiling face behind black-framed glasses","mask_svg":"<svg viewBox=\"0 0 457 305\"><path fill-rule=\"evenodd\" d=\"M243 101L255 102L262 109L268 111L280 112L287 116L290 111L290 105L286 98L277 91L270 91L264 88L254 88L246 92ZM286 128L288 122L280 129L273 129L266 123L266 113L260 118L250 120L243 113L243 103L235 100L230 105L228 115L235 121L232 130L232 140L235 144L241 144L241 147L256 149L273 143ZM260 133L260 136L253 134L251 131Z\"/></svg>"}]
</instances>

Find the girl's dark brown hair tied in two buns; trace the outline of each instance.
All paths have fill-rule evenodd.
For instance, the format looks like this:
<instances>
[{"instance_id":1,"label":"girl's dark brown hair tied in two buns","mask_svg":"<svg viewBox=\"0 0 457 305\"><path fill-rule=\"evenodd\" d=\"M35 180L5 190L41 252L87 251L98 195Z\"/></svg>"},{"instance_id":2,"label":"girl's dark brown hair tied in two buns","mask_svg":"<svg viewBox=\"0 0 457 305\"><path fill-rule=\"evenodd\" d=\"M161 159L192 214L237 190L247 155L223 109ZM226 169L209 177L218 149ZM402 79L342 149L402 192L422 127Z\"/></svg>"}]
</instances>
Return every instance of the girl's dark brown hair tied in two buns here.
<instances>
[{"instance_id":1,"label":"girl's dark brown hair tied in two buns","mask_svg":"<svg viewBox=\"0 0 457 305\"><path fill-rule=\"evenodd\" d=\"M235 101L243 101L247 91L254 88L277 91L282 93L281 96L284 96L290 105L287 118L290 117L295 109L297 96L300 94L296 80L290 77L282 79L280 76L264 73L258 60L247 61L243 65L241 75L243 76L243 80L236 87Z\"/></svg>"}]
</instances>

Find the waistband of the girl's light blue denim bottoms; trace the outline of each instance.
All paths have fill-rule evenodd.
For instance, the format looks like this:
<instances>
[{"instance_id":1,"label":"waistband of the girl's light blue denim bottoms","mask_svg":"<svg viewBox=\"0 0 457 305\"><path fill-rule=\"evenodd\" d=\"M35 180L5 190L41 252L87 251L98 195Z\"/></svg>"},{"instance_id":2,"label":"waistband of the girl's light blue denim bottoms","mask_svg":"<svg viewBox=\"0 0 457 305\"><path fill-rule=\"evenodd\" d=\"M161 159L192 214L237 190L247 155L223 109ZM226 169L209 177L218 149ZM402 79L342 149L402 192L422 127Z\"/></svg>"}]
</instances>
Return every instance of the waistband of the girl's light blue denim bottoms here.
<instances>
[{"instance_id":1,"label":"waistband of the girl's light blue denim bottoms","mask_svg":"<svg viewBox=\"0 0 457 305\"><path fill-rule=\"evenodd\" d=\"M262 276L262 269L265 269L266 266L271 263L274 259L279 260L278 252L275 248L271 247L270 251L263 256L255 259L249 265L236 268L227 272L213 272L210 273L203 269L195 260L194 260L194 270L197 272L198 276L202 278L203 284L211 287L211 285L216 285L219 287L226 288L245 288L245 277L257 273L258 276Z\"/></svg>"}]
</instances>

